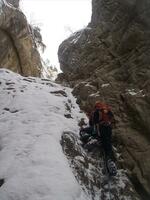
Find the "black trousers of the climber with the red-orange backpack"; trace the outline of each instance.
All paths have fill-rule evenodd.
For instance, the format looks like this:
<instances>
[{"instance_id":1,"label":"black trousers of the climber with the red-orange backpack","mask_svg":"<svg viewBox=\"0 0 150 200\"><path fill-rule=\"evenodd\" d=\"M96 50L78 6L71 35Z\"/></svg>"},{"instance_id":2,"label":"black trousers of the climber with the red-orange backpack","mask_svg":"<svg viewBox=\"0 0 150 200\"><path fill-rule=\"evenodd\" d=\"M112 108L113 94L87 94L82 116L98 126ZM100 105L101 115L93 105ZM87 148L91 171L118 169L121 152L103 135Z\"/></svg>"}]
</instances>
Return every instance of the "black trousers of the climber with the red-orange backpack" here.
<instances>
[{"instance_id":1,"label":"black trousers of the climber with the red-orange backpack","mask_svg":"<svg viewBox=\"0 0 150 200\"><path fill-rule=\"evenodd\" d=\"M112 141L111 141L112 128L110 126L102 125L100 127L100 136L106 158L112 159L113 158Z\"/></svg>"}]
</instances>

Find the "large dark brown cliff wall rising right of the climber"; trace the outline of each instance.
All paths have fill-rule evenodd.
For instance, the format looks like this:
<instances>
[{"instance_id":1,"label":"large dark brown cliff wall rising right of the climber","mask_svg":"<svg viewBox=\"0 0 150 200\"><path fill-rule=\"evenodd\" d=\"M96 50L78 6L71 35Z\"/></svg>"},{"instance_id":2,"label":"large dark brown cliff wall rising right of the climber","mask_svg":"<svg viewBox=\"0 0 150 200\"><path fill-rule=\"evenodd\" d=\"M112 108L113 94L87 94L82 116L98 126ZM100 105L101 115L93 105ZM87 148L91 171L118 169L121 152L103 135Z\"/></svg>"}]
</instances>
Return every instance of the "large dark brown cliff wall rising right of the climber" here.
<instances>
[{"instance_id":1,"label":"large dark brown cliff wall rising right of the climber","mask_svg":"<svg viewBox=\"0 0 150 200\"><path fill-rule=\"evenodd\" d=\"M93 0L87 28L59 47L63 74L83 110L112 106L120 166L142 198L150 195L150 2Z\"/></svg>"}]
</instances>

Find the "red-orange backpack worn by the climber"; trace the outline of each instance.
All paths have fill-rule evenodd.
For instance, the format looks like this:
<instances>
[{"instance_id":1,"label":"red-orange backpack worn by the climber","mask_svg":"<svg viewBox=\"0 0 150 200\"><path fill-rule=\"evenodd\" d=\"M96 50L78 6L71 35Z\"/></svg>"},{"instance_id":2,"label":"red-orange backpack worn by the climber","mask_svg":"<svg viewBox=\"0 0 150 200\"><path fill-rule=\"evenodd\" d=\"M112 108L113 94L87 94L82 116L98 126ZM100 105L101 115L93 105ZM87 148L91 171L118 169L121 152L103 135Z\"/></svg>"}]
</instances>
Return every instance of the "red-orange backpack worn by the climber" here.
<instances>
[{"instance_id":1,"label":"red-orange backpack worn by the climber","mask_svg":"<svg viewBox=\"0 0 150 200\"><path fill-rule=\"evenodd\" d=\"M95 108L101 111L100 124L109 124L114 121L114 115L111 107L105 103L96 103Z\"/></svg>"}]
</instances>

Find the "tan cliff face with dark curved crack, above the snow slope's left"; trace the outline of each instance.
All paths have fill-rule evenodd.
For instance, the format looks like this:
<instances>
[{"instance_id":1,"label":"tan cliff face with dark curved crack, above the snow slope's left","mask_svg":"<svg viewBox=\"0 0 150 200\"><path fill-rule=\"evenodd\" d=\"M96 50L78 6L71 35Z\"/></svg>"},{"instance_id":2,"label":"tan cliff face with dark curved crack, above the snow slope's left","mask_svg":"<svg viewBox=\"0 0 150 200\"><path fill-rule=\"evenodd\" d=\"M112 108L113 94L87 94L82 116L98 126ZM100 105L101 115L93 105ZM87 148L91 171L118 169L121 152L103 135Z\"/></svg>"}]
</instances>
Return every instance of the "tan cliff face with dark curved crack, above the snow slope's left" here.
<instances>
[{"instance_id":1,"label":"tan cliff face with dark curved crack, above the snow slope's left","mask_svg":"<svg viewBox=\"0 0 150 200\"><path fill-rule=\"evenodd\" d=\"M19 0L0 1L0 67L40 75L40 56Z\"/></svg>"}]
</instances>

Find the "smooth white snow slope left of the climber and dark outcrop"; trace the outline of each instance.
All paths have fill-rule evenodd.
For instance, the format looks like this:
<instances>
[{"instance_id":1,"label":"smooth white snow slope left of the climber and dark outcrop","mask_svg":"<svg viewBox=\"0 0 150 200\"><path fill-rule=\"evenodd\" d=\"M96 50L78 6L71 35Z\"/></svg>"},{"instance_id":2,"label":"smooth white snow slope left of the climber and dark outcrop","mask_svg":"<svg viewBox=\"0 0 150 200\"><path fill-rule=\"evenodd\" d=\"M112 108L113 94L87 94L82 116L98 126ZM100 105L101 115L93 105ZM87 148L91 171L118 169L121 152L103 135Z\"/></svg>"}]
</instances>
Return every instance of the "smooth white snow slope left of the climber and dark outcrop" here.
<instances>
[{"instance_id":1,"label":"smooth white snow slope left of the climber and dark outcrop","mask_svg":"<svg viewBox=\"0 0 150 200\"><path fill-rule=\"evenodd\" d=\"M88 199L60 145L85 117L75 101L69 88L0 69L0 200Z\"/></svg>"}]
</instances>

